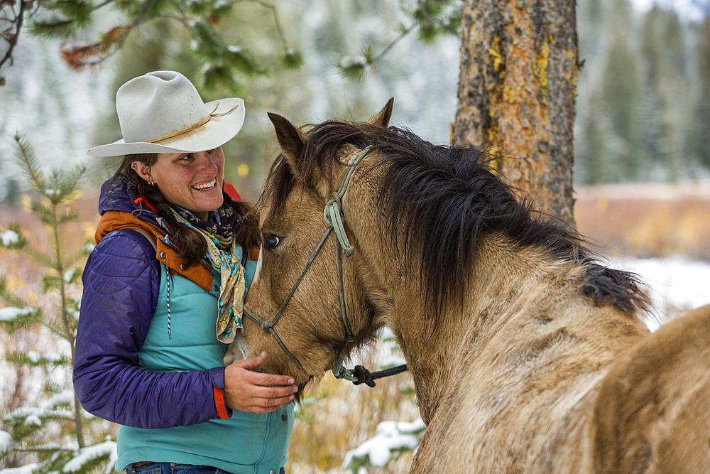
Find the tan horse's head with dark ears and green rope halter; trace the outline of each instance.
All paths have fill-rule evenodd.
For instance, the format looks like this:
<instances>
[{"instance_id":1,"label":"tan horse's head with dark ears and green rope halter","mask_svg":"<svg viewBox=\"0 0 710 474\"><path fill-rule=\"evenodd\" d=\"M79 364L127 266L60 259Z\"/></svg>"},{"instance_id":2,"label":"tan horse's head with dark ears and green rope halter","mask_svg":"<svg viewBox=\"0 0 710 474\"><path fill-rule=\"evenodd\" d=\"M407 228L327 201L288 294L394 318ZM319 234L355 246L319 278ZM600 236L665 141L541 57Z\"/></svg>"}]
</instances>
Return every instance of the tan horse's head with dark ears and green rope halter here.
<instances>
[{"instance_id":1,"label":"tan horse's head with dark ears and green rope halter","mask_svg":"<svg viewBox=\"0 0 710 474\"><path fill-rule=\"evenodd\" d=\"M387 127L392 104L359 126L370 132ZM342 367L344 357L384 324L386 298L377 277L363 271L362 249L351 231L356 216L375 203L366 203L363 194L365 146L322 146L284 117L269 118L281 153L258 206L266 217L246 298L244 340L250 354L268 353L263 370L291 375L303 387L338 361ZM356 159L363 161L358 170ZM348 171L359 177L344 184Z\"/></svg>"}]
</instances>

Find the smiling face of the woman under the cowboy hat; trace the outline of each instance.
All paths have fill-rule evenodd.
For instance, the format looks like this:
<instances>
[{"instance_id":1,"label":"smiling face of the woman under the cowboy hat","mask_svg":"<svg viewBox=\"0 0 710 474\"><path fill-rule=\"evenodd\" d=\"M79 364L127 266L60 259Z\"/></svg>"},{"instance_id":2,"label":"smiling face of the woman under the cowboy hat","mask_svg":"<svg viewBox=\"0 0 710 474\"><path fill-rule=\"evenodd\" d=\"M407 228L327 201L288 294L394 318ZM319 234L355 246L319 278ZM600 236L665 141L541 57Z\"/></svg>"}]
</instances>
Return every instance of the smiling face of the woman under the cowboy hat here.
<instances>
[{"instance_id":1,"label":"smiling face of the woman under the cowboy hat","mask_svg":"<svg viewBox=\"0 0 710 474\"><path fill-rule=\"evenodd\" d=\"M207 220L209 211L224 203L224 153L222 147L198 153L158 153L155 164L136 171L146 181L153 181L169 203ZM141 173L143 171L144 173Z\"/></svg>"}]
</instances>

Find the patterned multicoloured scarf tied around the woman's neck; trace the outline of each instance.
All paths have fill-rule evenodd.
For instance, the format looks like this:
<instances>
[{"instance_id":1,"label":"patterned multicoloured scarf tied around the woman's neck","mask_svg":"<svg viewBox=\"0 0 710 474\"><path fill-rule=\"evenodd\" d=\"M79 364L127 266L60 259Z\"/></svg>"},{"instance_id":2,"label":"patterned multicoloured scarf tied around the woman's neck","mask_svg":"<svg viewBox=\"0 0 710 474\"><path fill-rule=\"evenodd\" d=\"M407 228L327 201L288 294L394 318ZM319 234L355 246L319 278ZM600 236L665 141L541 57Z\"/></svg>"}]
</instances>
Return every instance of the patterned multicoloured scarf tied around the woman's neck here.
<instances>
[{"instance_id":1,"label":"patterned multicoloured scarf tied around the woman's neck","mask_svg":"<svg viewBox=\"0 0 710 474\"><path fill-rule=\"evenodd\" d=\"M234 229L239 225L239 215L225 203L217 209L218 222L204 222L191 212L173 208L175 218L188 227L200 232L207 242L207 257L213 269L222 276L217 300L217 340L229 344L234 340L236 330L241 328L241 313L244 309L244 266L241 265L243 249L234 242Z\"/></svg>"}]
</instances>

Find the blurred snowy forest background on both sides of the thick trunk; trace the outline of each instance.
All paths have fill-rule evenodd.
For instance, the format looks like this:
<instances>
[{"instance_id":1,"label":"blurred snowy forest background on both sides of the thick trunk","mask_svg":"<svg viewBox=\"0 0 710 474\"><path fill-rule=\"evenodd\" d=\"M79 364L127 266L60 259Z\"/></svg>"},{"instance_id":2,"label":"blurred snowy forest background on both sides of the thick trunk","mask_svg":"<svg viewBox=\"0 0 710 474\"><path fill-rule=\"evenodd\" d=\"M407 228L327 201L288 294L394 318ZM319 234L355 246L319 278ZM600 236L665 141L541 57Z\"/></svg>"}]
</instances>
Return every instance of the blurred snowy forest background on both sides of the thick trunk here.
<instances>
[{"instance_id":1,"label":"blurred snowy forest background on both sides of the thick trunk","mask_svg":"<svg viewBox=\"0 0 710 474\"><path fill-rule=\"evenodd\" d=\"M630 0L577 2L579 58L575 128L576 185L638 181L674 182L710 176L710 2L695 3L704 18L681 16L667 4L634 9ZM85 32L107 28L114 12ZM205 100L239 95L248 117L229 144L228 178L248 197L260 193L275 142L266 112L294 123L364 119L395 97L393 123L435 142L449 141L458 81L459 39L405 36L359 82L344 79L342 65L370 46L382 51L409 21L397 1L314 0L278 4L241 2L216 26L224 41L248 48L266 63L266 75L234 76L231 87L207 81ZM302 55L298 70L280 63L283 39ZM22 38L0 88L0 200L16 204L26 186L14 163L10 135L19 130L48 166L87 161L84 151L120 137L116 89L150 70L175 69L204 84L209 65L195 40L166 18L134 32L123 50L93 73L62 63L60 43ZM214 81L212 81L214 82ZM484 144L481 144L484 145ZM97 188L114 163L92 162ZM4 192L2 192L4 190Z\"/></svg>"}]
</instances>

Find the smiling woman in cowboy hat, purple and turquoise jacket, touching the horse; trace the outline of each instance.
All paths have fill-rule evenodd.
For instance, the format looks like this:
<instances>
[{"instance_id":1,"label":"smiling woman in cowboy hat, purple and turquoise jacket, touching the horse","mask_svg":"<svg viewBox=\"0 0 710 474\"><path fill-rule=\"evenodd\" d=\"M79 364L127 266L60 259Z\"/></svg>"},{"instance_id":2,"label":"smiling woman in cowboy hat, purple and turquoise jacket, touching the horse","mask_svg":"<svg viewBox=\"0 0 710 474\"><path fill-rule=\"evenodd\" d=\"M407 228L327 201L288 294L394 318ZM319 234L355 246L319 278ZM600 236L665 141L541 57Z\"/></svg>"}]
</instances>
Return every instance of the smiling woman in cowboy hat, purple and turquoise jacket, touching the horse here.
<instances>
[{"instance_id":1,"label":"smiling woman in cowboy hat, purple and turquoise jacket, touching the horse","mask_svg":"<svg viewBox=\"0 0 710 474\"><path fill-rule=\"evenodd\" d=\"M244 249L258 244L246 205L223 192L222 145L244 102L204 104L159 71L121 86L116 112L124 138L88 152L124 160L102 186L84 269L78 397L121 425L116 470L283 473L293 379L253 372L265 354L222 364L256 267Z\"/></svg>"}]
</instances>

